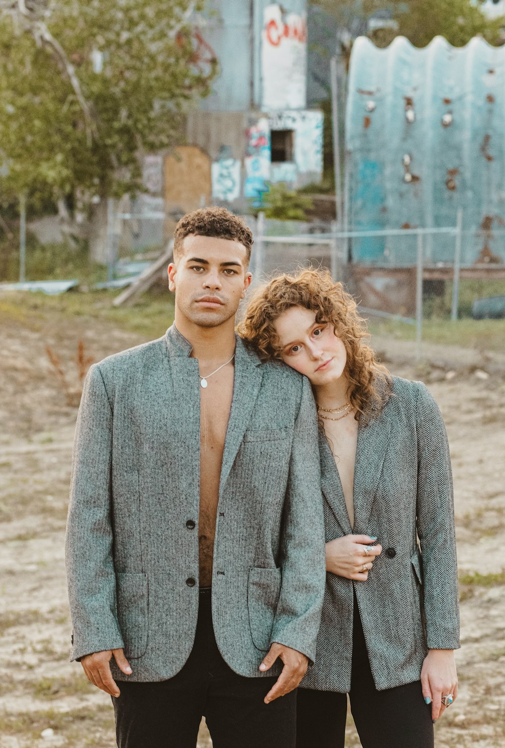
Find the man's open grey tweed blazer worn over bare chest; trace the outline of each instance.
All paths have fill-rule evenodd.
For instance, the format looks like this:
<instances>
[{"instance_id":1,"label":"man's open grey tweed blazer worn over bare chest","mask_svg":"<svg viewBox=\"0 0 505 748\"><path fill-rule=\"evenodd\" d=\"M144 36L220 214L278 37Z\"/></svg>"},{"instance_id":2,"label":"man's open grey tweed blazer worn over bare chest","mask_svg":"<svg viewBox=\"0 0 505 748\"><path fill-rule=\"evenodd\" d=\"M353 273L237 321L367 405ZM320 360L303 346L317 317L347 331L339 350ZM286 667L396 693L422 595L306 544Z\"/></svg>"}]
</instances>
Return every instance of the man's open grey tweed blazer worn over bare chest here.
<instances>
[{"instance_id":1,"label":"man's open grey tweed blazer worn over bare chest","mask_svg":"<svg viewBox=\"0 0 505 748\"><path fill-rule=\"evenodd\" d=\"M199 577L199 377L175 327L87 375L66 534L71 660L123 647L176 675L193 647ZM324 592L323 498L309 381L238 337L214 543L220 652L249 677L273 641L310 659Z\"/></svg>"}]
</instances>

